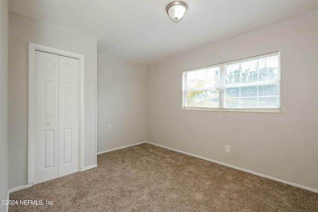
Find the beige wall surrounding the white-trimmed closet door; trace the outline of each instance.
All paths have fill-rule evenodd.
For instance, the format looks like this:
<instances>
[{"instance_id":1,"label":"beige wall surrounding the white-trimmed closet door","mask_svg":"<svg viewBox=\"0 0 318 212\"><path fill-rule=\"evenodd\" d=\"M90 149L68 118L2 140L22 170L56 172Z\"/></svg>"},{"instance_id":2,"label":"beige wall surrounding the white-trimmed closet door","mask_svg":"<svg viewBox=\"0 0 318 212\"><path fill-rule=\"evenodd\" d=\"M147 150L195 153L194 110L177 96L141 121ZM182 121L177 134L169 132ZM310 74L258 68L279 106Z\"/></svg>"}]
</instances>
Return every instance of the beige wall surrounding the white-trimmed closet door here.
<instances>
[{"instance_id":1,"label":"beige wall surrounding the white-trimmed closet door","mask_svg":"<svg viewBox=\"0 0 318 212\"><path fill-rule=\"evenodd\" d=\"M96 164L96 39L10 13L9 188L27 183L28 42L84 56L84 166Z\"/></svg>"}]
</instances>

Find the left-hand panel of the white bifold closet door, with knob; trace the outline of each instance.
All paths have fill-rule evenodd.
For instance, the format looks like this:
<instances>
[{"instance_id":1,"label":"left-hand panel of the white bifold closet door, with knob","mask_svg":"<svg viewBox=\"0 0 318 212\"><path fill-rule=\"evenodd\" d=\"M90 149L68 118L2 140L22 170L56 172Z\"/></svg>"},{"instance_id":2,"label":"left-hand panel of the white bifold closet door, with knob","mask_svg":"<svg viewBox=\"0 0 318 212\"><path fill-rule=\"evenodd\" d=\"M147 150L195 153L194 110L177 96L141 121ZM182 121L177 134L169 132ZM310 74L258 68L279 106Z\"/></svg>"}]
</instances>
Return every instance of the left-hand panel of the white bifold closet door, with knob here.
<instances>
[{"instance_id":1,"label":"left-hand panel of the white bifold closet door, with knob","mask_svg":"<svg viewBox=\"0 0 318 212\"><path fill-rule=\"evenodd\" d=\"M34 183L58 177L59 56L35 51Z\"/></svg>"}]
</instances>

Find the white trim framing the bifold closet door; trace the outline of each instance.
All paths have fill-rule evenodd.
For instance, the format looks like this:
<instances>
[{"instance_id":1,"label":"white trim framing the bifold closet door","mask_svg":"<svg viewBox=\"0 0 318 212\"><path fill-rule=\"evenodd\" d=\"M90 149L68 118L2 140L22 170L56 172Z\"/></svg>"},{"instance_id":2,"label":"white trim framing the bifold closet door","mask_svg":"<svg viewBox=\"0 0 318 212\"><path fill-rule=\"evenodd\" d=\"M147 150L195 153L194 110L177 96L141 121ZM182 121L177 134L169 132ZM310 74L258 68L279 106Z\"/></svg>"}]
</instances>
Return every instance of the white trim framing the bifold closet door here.
<instances>
[{"instance_id":1,"label":"white trim framing the bifold closet door","mask_svg":"<svg viewBox=\"0 0 318 212\"><path fill-rule=\"evenodd\" d=\"M34 184L35 142L35 51L79 59L79 170L84 168L84 56L29 43L28 184Z\"/></svg>"}]
</instances>

